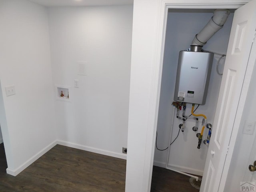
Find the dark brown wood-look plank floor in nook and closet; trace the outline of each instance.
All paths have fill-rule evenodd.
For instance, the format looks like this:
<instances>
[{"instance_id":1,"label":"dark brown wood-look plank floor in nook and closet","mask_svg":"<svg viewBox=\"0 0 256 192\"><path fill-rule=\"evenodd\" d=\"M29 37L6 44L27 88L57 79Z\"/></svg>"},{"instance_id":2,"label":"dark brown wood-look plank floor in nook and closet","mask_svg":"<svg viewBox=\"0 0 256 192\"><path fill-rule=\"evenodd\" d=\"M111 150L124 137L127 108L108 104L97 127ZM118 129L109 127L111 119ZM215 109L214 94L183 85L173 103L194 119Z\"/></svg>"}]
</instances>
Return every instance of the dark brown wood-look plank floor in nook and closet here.
<instances>
[{"instance_id":1,"label":"dark brown wood-look plank floor in nook and closet","mask_svg":"<svg viewBox=\"0 0 256 192\"><path fill-rule=\"evenodd\" d=\"M0 144L0 192L124 192L126 160L56 145L14 177ZM198 192L189 177L154 166L151 192Z\"/></svg>"}]
</instances>

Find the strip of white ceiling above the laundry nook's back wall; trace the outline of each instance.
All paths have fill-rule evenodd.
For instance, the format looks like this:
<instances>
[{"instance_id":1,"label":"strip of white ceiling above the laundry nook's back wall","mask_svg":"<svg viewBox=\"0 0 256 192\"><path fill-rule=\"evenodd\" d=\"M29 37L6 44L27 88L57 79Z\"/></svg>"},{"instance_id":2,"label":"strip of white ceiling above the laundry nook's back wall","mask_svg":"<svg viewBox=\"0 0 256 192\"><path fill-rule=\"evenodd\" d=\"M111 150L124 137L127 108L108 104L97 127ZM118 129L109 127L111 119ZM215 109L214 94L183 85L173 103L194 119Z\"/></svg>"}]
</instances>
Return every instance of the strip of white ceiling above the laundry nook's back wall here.
<instances>
[{"instance_id":1,"label":"strip of white ceiling above the laundry nook's back wall","mask_svg":"<svg viewBox=\"0 0 256 192\"><path fill-rule=\"evenodd\" d=\"M108 6L108 5L132 5L133 0L29 0L46 6Z\"/></svg>"}]
</instances>

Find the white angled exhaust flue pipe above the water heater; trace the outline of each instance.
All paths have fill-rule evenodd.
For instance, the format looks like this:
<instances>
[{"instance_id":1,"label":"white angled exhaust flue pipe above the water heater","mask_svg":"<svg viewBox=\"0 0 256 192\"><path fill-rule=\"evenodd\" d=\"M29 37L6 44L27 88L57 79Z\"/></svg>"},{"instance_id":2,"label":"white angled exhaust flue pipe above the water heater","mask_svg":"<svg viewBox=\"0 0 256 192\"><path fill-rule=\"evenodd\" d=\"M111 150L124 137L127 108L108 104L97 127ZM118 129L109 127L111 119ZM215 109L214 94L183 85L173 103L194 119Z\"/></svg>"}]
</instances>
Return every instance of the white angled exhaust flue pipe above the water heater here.
<instances>
[{"instance_id":1,"label":"white angled exhaust flue pipe above the water heater","mask_svg":"<svg viewBox=\"0 0 256 192\"><path fill-rule=\"evenodd\" d=\"M191 45L204 46L206 42L223 27L229 14L230 10L228 9L216 9L210 21L196 34Z\"/></svg>"}]
</instances>

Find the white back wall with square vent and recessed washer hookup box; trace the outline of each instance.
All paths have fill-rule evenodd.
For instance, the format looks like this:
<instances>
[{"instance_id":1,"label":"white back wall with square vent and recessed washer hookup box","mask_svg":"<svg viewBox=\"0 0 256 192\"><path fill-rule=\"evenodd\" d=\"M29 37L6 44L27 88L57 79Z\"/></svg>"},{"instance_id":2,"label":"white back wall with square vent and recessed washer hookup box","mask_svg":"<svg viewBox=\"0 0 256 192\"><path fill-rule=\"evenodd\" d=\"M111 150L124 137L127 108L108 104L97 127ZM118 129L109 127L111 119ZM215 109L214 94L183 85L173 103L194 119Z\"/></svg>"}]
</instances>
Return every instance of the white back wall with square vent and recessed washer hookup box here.
<instances>
[{"instance_id":1,"label":"white back wall with square vent and recessed washer hookup box","mask_svg":"<svg viewBox=\"0 0 256 192\"><path fill-rule=\"evenodd\" d=\"M126 158L132 9L48 9L53 84L70 86L71 102L55 101L62 144ZM86 76L77 61L87 62Z\"/></svg>"}]
</instances>

